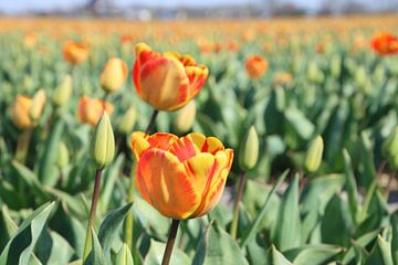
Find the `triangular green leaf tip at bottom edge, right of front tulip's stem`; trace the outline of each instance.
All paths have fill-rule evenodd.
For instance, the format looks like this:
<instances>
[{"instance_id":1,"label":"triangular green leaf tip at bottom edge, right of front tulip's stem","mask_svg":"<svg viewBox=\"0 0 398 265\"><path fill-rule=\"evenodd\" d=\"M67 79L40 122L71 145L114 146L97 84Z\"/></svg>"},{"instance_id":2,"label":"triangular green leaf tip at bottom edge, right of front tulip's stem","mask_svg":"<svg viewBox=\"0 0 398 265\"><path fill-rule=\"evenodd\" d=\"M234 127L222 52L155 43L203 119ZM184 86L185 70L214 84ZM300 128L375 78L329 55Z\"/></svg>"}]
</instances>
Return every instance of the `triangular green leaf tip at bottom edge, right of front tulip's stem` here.
<instances>
[{"instance_id":1,"label":"triangular green leaf tip at bottom edge, right of front tulip's stem","mask_svg":"<svg viewBox=\"0 0 398 265\"><path fill-rule=\"evenodd\" d=\"M202 236L192 265L221 265L221 264L248 264L238 244L231 236L210 222L208 230Z\"/></svg>"}]
</instances>

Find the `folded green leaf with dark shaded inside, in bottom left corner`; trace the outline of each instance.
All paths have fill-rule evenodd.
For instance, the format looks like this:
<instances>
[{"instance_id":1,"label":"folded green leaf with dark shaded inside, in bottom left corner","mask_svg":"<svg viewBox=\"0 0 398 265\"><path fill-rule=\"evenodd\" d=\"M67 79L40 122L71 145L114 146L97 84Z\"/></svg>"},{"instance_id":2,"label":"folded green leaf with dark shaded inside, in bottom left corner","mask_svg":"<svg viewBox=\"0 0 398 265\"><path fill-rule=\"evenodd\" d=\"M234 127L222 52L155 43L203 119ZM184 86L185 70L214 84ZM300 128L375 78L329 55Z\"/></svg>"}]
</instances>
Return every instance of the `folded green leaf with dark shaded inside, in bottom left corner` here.
<instances>
[{"instance_id":1,"label":"folded green leaf with dark shaded inside, in bottom left corner","mask_svg":"<svg viewBox=\"0 0 398 265\"><path fill-rule=\"evenodd\" d=\"M54 205L55 202L42 205L22 222L2 251L0 264L28 264Z\"/></svg>"}]
</instances>

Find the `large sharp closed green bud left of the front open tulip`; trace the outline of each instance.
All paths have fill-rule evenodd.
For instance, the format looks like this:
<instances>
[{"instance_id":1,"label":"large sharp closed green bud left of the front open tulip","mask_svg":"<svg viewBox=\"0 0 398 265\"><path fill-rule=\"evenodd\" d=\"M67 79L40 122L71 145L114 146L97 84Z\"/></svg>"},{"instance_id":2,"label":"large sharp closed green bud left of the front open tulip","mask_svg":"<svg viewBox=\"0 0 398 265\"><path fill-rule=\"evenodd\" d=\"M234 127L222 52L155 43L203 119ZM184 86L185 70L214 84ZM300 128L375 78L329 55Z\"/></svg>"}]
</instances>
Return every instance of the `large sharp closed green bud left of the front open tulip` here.
<instances>
[{"instance_id":1,"label":"large sharp closed green bud left of the front open tulip","mask_svg":"<svg viewBox=\"0 0 398 265\"><path fill-rule=\"evenodd\" d=\"M115 137L106 112L103 113L96 125L91 142L91 157L97 169L103 169L111 163L115 155Z\"/></svg>"}]
</instances>

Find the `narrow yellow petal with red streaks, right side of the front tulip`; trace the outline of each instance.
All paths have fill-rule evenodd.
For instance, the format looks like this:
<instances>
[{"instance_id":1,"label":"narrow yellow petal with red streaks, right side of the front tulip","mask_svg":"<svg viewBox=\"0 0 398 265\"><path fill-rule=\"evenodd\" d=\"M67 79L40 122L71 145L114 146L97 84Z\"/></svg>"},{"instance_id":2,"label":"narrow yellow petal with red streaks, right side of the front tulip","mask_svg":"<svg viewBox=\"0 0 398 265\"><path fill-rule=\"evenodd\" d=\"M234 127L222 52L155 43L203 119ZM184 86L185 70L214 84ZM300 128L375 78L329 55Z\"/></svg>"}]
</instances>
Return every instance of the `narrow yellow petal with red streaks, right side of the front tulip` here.
<instances>
[{"instance_id":1,"label":"narrow yellow petal with red streaks, right side of the front tulip","mask_svg":"<svg viewBox=\"0 0 398 265\"><path fill-rule=\"evenodd\" d=\"M220 201L226 187L227 177L232 166L233 151L232 149L218 151L214 158L214 166L202 193L202 201L191 215L192 218L210 212Z\"/></svg>"}]
</instances>

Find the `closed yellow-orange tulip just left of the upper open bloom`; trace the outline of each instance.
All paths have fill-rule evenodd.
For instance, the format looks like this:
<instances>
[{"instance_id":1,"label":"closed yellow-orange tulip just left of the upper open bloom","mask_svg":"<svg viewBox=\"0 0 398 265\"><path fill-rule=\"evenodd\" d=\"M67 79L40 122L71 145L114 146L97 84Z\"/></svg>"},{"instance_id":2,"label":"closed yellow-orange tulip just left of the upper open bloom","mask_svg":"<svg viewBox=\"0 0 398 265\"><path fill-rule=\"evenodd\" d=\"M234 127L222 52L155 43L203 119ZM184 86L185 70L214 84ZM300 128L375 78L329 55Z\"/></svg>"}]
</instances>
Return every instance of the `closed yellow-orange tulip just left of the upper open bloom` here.
<instances>
[{"instance_id":1,"label":"closed yellow-orange tulip just left of the upper open bloom","mask_svg":"<svg viewBox=\"0 0 398 265\"><path fill-rule=\"evenodd\" d=\"M101 87L106 92L114 92L123 87L127 80L127 65L118 59L112 57L106 62L106 65L101 74Z\"/></svg>"}]
</instances>

